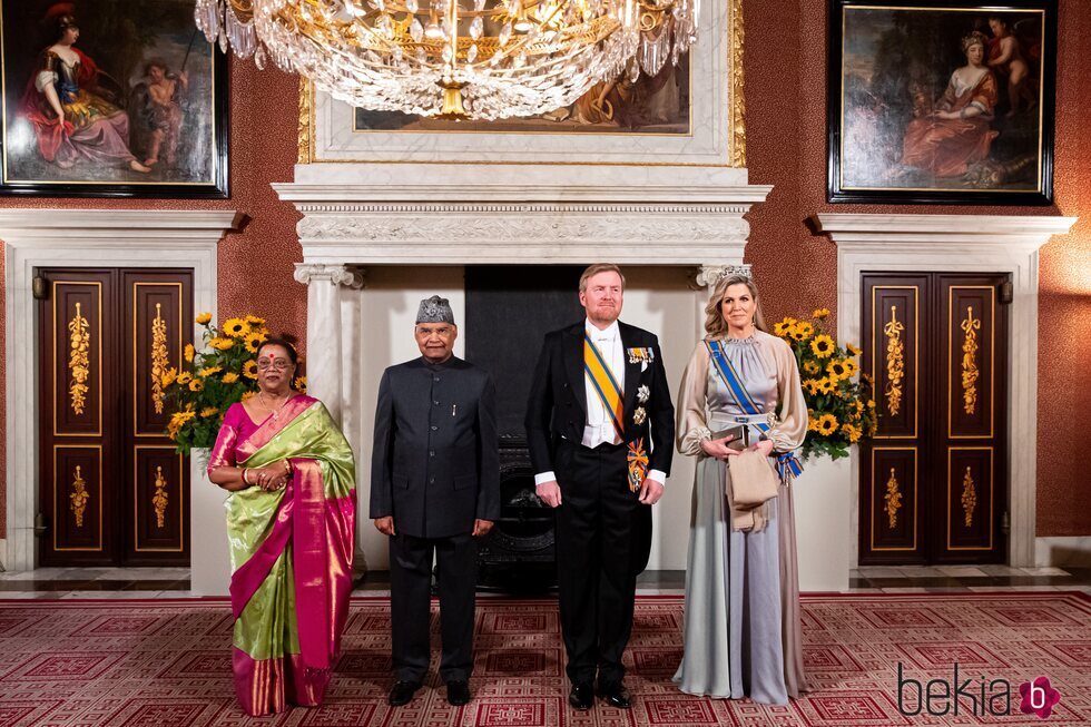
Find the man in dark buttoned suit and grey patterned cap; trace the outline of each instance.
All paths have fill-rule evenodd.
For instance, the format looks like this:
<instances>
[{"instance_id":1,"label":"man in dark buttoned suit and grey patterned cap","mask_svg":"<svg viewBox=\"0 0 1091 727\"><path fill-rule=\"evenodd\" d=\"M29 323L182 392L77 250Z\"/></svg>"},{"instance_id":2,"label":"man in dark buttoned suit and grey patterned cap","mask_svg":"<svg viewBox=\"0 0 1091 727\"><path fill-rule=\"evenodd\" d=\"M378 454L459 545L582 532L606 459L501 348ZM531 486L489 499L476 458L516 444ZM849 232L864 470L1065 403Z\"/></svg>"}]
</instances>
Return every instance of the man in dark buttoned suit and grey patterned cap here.
<instances>
[{"instance_id":1,"label":"man in dark buttoned suit and grey patterned cap","mask_svg":"<svg viewBox=\"0 0 1091 727\"><path fill-rule=\"evenodd\" d=\"M421 301L422 356L383 373L375 411L371 517L390 536L392 706L407 704L429 670L430 583L439 564L448 701L470 701L476 544L500 517L500 441L489 374L452 354L448 301Z\"/></svg>"}]
</instances>

